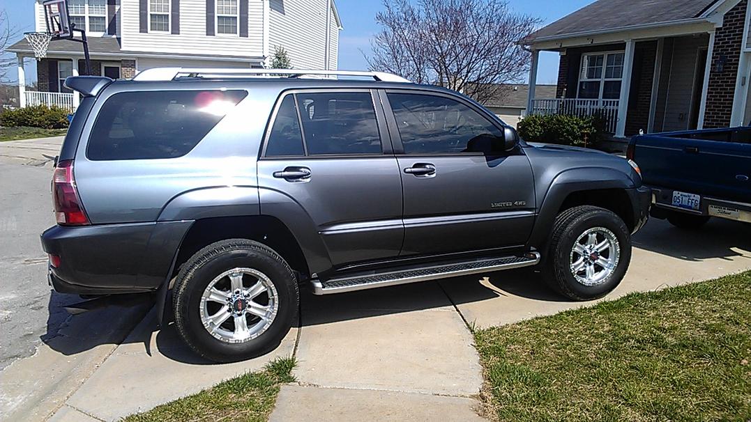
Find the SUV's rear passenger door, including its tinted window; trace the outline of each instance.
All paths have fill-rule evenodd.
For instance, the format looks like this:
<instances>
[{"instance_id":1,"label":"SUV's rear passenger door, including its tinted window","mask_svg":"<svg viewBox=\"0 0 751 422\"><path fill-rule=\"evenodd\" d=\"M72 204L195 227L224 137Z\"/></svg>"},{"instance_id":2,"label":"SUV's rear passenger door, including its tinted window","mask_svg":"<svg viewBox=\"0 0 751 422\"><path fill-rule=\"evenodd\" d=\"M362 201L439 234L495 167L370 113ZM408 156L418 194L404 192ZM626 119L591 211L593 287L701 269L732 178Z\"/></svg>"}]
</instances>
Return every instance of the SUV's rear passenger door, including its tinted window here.
<instances>
[{"instance_id":1,"label":"SUV's rear passenger door, including its tinted window","mask_svg":"<svg viewBox=\"0 0 751 422\"><path fill-rule=\"evenodd\" d=\"M372 94L286 94L258 162L259 185L305 209L334 266L398 256L402 247L402 182Z\"/></svg>"}]
</instances>

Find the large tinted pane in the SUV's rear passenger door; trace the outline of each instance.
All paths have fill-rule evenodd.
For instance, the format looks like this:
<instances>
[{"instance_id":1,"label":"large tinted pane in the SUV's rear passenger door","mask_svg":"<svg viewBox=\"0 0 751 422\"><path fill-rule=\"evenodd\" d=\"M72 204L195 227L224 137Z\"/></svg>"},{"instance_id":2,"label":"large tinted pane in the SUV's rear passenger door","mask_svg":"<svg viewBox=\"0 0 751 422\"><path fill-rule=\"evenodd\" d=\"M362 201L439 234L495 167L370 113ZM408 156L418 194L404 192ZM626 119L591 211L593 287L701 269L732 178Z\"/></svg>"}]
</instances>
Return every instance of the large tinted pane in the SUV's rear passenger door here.
<instances>
[{"instance_id":1,"label":"large tinted pane in the SUV's rear passenger door","mask_svg":"<svg viewBox=\"0 0 751 422\"><path fill-rule=\"evenodd\" d=\"M381 154L369 92L297 94L309 155Z\"/></svg>"}]
</instances>

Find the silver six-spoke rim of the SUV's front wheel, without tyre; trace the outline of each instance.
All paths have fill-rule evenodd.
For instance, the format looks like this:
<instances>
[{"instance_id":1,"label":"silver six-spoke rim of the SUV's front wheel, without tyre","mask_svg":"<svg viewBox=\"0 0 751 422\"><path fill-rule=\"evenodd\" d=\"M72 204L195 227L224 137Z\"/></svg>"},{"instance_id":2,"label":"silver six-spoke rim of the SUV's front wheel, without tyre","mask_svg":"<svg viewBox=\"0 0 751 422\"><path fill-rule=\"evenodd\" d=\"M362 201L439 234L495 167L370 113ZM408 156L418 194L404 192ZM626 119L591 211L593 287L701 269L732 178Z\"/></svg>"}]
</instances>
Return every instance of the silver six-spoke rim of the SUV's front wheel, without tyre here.
<instances>
[{"instance_id":1,"label":"silver six-spoke rim of the SUV's front wheel, without tyre","mask_svg":"<svg viewBox=\"0 0 751 422\"><path fill-rule=\"evenodd\" d=\"M597 286L608 280L620 259L620 245L613 232L594 227L584 232L571 250L571 272L584 286Z\"/></svg>"}]
</instances>

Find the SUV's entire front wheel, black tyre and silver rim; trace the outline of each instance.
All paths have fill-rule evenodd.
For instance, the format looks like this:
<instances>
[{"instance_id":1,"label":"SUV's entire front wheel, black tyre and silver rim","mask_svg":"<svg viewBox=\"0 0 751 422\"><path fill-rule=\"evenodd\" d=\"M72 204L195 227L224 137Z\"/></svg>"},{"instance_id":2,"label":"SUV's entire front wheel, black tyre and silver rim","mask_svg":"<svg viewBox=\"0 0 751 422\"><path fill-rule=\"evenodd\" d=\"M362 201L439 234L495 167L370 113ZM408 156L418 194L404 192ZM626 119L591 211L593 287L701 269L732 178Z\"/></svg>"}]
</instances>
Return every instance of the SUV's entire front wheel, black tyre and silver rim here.
<instances>
[{"instance_id":1,"label":"SUV's entire front wheel, black tyre and silver rim","mask_svg":"<svg viewBox=\"0 0 751 422\"><path fill-rule=\"evenodd\" d=\"M544 264L547 283L575 301L602 298L631 261L629 228L604 208L583 205L558 214Z\"/></svg>"}]
</instances>

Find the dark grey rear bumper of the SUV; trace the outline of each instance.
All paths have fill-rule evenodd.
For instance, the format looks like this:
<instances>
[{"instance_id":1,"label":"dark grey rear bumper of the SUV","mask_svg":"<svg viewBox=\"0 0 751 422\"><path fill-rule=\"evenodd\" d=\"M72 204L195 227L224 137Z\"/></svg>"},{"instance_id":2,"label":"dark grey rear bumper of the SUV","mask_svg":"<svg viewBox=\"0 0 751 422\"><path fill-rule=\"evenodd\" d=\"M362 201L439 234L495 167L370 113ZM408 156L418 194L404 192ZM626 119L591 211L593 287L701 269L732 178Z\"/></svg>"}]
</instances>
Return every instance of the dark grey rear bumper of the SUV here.
<instances>
[{"instance_id":1,"label":"dark grey rear bumper of the SUV","mask_svg":"<svg viewBox=\"0 0 751 422\"><path fill-rule=\"evenodd\" d=\"M79 295L153 292L164 283L192 221L101 226L53 226L41 235L44 252L60 257L48 281Z\"/></svg>"}]
</instances>

